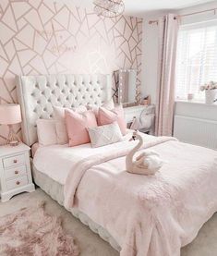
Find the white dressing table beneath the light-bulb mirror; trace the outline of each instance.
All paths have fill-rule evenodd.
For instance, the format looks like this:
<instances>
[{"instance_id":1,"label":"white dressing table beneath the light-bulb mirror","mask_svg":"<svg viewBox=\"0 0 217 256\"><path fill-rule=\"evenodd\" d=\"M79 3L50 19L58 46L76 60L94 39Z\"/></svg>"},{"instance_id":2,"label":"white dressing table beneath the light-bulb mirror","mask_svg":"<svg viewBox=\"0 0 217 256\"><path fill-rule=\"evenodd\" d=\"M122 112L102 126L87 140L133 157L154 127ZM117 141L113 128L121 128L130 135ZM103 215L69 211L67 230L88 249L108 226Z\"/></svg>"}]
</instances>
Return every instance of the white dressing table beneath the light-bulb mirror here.
<instances>
[{"instance_id":1,"label":"white dressing table beneath the light-bulb mirror","mask_svg":"<svg viewBox=\"0 0 217 256\"><path fill-rule=\"evenodd\" d=\"M133 122L134 118L137 118L139 121L142 122L141 117L144 118L145 116L146 120L145 122L143 122L144 127L139 130L142 132L150 133L151 135L154 134L154 105L129 106L124 108L124 112L128 127L130 127L130 124Z\"/></svg>"}]
</instances>

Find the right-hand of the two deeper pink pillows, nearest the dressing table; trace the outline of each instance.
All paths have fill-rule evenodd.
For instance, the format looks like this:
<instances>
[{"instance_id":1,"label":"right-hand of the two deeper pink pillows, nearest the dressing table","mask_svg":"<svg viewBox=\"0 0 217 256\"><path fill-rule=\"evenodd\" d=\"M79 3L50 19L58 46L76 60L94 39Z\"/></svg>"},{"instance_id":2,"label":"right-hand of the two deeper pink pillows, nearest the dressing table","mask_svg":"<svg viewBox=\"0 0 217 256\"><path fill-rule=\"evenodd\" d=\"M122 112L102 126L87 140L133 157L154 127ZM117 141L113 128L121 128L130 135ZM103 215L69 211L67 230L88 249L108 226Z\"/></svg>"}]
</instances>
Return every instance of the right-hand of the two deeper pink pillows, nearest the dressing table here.
<instances>
[{"instance_id":1,"label":"right-hand of the two deeper pink pillows, nearest the dressing table","mask_svg":"<svg viewBox=\"0 0 217 256\"><path fill-rule=\"evenodd\" d=\"M123 135L127 133L127 124L125 121L124 109L122 105L115 106L113 110L108 110L104 107L99 108L98 124L99 126L109 125L117 122Z\"/></svg>"}]
</instances>

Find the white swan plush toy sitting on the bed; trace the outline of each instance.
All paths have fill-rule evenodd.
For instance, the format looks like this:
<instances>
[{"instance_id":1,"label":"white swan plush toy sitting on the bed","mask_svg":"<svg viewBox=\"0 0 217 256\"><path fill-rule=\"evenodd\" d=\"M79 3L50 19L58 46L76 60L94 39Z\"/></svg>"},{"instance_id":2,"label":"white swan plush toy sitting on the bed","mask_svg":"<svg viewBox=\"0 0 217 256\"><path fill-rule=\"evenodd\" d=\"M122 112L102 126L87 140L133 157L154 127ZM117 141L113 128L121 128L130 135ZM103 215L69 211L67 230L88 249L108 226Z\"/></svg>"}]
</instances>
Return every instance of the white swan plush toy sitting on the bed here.
<instances>
[{"instance_id":1,"label":"white swan plush toy sitting on the bed","mask_svg":"<svg viewBox=\"0 0 217 256\"><path fill-rule=\"evenodd\" d=\"M154 151L145 151L141 152L134 161L133 157L142 146L143 140L137 131L133 133L131 140L139 140L139 143L126 156L127 172L139 175L154 175L163 165L160 155Z\"/></svg>"}]
</instances>

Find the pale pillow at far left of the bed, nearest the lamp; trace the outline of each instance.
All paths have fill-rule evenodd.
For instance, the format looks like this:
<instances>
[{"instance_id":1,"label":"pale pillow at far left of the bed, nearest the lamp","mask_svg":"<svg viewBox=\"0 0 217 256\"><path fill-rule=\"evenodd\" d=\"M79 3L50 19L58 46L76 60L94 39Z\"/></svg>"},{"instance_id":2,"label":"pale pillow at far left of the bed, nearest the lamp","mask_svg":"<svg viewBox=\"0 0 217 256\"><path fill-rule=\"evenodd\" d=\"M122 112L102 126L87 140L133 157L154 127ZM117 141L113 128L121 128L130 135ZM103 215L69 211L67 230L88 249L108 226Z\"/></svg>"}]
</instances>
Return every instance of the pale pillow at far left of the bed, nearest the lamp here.
<instances>
[{"instance_id":1,"label":"pale pillow at far left of the bed, nearest the lamp","mask_svg":"<svg viewBox=\"0 0 217 256\"><path fill-rule=\"evenodd\" d=\"M39 143L42 146L57 143L54 119L38 119L36 121Z\"/></svg>"}]
</instances>

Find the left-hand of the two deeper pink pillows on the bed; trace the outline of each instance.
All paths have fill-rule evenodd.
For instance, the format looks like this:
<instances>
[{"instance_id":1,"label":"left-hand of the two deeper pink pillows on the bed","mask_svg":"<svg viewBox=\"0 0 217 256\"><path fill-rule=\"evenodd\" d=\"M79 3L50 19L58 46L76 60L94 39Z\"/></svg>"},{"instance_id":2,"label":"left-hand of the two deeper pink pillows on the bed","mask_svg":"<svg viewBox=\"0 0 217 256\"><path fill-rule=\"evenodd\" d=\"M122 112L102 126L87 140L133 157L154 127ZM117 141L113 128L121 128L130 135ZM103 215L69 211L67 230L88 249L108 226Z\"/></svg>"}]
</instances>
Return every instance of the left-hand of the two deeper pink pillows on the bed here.
<instances>
[{"instance_id":1,"label":"left-hand of the two deeper pink pillows on the bed","mask_svg":"<svg viewBox=\"0 0 217 256\"><path fill-rule=\"evenodd\" d=\"M90 110L82 114L72 110L65 110L66 130L69 147L89 143L90 136L87 128L97 127L97 121L94 113Z\"/></svg>"}]
</instances>

